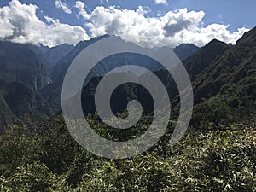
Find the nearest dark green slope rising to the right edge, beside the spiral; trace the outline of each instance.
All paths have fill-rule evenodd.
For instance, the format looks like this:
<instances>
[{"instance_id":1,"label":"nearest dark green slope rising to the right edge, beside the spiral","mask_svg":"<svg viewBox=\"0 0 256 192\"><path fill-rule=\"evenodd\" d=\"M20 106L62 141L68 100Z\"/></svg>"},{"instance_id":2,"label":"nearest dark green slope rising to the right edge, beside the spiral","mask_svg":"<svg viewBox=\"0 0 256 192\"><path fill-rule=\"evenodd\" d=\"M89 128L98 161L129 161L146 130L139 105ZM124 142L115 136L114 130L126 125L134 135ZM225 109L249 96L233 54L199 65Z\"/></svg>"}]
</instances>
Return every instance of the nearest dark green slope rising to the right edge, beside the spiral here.
<instances>
[{"instance_id":1,"label":"nearest dark green slope rising to the right edge, beside the spiral","mask_svg":"<svg viewBox=\"0 0 256 192\"><path fill-rule=\"evenodd\" d=\"M256 27L212 62L194 81L195 125L256 117Z\"/></svg>"}]
</instances>

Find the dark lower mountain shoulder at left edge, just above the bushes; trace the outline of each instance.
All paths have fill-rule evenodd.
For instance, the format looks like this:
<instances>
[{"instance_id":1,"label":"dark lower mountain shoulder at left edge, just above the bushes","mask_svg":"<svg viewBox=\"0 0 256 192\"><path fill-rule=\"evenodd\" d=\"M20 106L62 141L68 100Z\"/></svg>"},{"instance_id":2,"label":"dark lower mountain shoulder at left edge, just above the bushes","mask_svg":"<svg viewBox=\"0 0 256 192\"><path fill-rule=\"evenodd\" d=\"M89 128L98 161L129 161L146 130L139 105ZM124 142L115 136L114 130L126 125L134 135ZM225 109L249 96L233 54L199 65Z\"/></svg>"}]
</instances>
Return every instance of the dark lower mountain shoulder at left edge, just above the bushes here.
<instances>
[{"instance_id":1,"label":"dark lower mountain shoulder at left edge, just above the bushes","mask_svg":"<svg viewBox=\"0 0 256 192\"><path fill-rule=\"evenodd\" d=\"M11 123L27 116L43 119L53 115L49 104L35 90L18 82L5 82L0 79L0 133Z\"/></svg>"}]
</instances>

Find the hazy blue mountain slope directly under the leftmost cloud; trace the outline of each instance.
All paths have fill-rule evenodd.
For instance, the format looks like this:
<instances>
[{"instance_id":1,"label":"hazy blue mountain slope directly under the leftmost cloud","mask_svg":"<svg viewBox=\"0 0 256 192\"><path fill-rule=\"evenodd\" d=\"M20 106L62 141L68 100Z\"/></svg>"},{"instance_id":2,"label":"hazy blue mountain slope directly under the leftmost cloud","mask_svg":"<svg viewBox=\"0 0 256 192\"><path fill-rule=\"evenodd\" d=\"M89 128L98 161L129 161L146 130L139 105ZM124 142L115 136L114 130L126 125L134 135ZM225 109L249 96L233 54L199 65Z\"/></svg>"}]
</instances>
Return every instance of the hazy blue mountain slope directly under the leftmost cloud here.
<instances>
[{"instance_id":1,"label":"hazy blue mountain slope directly under the leftmost cloud","mask_svg":"<svg viewBox=\"0 0 256 192\"><path fill-rule=\"evenodd\" d=\"M30 44L0 42L0 78L39 90L48 82L44 64Z\"/></svg>"}]
</instances>

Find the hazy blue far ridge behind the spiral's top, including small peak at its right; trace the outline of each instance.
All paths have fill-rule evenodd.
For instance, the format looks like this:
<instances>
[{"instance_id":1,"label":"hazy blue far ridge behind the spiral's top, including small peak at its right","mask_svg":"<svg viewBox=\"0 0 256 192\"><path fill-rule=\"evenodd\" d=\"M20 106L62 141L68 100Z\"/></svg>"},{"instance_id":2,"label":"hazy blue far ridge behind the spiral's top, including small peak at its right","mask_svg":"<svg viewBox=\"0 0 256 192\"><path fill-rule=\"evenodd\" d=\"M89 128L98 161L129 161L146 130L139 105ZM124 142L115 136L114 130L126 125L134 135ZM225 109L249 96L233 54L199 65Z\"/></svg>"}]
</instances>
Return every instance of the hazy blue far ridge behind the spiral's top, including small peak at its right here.
<instances>
[{"instance_id":1,"label":"hazy blue far ridge behind the spiral's top, including small peak at its right","mask_svg":"<svg viewBox=\"0 0 256 192\"><path fill-rule=\"evenodd\" d=\"M73 59L90 44L93 44L102 38L108 37L109 36L106 35L99 38L92 38L88 41L80 42L75 46L74 49L72 49L55 65L51 73L51 78L54 80L54 82L45 86L44 89L42 89L40 92L49 102L52 108L55 109L56 112L61 109L61 85L67 72L67 68L71 65ZM197 49L199 48L192 44L181 44L175 49L175 51L177 51L177 54L180 55L182 58L187 58L187 56L191 55ZM104 61L98 63L93 70L96 73L90 73L89 77L87 77L87 80L90 80L93 77L100 77L105 73L108 73L113 68L124 65L125 63L140 63L142 67L147 67L151 71L159 70L161 68L160 65L155 65L154 61L148 60L148 58L143 55L134 55L127 53L109 57Z\"/></svg>"}]
</instances>

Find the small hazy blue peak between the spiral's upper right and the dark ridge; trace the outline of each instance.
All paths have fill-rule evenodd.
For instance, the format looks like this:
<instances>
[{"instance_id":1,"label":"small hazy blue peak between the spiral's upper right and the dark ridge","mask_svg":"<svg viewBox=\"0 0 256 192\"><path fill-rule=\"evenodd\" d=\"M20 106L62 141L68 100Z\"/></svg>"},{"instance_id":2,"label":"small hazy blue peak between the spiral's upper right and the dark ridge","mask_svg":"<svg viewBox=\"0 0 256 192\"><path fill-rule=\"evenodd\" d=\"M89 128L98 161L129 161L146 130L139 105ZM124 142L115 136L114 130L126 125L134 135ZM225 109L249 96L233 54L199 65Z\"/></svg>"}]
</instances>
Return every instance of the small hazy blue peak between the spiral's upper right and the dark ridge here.
<instances>
[{"instance_id":1,"label":"small hazy blue peak between the spiral's upper right and the dark ridge","mask_svg":"<svg viewBox=\"0 0 256 192\"><path fill-rule=\"evenodd\" d=\"M186 60L190 55L194 54L200 48L194 44L180 44L173 48L173 52L178 56L181 61Z\"/></svg>"}]
</instances>

